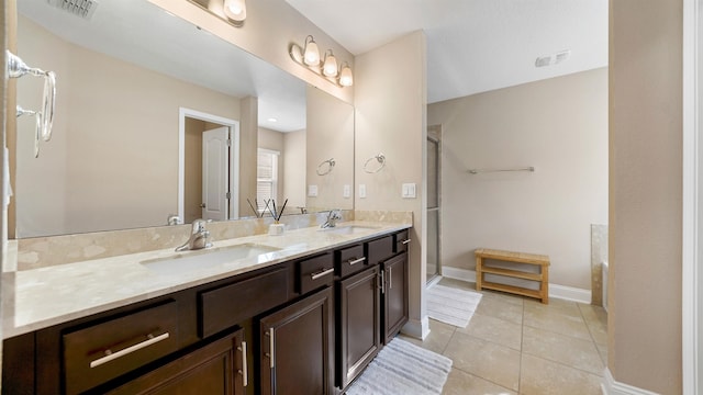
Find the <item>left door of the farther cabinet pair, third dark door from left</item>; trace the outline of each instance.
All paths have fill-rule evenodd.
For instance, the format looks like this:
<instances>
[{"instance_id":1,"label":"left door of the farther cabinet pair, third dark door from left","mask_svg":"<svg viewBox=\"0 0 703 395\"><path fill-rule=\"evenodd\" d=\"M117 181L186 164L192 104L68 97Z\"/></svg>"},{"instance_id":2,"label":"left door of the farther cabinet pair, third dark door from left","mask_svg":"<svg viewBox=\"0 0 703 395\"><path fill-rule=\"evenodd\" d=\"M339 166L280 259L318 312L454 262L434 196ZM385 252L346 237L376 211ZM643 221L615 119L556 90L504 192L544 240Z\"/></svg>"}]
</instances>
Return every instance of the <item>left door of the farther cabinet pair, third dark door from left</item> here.
<instances>
[{"instance_id":1,"label":"left door of the farther cabinet pair, third dark door from left","mask_svg":"<svg viewBox=\"0 0 703 395\"><path fill-rule=\"evenodd\" d=\"M337 284L337 385L346 387L381 347L380 290L375 266Z\"/></svg>"}]
</instances>

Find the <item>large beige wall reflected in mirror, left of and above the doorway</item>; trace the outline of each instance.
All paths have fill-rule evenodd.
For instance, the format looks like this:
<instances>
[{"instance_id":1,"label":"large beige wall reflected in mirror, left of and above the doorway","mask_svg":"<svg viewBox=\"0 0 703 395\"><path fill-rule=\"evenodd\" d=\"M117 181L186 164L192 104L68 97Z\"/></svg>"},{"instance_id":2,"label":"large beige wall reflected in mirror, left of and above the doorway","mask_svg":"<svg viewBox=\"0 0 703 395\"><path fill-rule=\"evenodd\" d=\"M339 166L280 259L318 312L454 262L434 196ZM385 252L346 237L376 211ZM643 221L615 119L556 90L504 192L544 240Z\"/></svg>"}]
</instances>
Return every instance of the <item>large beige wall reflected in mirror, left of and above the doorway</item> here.
<instances>
[{"instance_id":1,"label":"large beige wall reflected in mirror, left of and above the doorway","mask_svg":"<svg viewBox=\"0 0 703 395\"><path fill-rule=\"evenodd\" d=\"M236 98L58 41L24 18L18 52L59 76L54 137L38 159L32 123L18 127L21 237L164 224L177 212L179 108L239 119ZM40 79L21 82L18 100L37 109Z\"/></svg>"}]
</instances>

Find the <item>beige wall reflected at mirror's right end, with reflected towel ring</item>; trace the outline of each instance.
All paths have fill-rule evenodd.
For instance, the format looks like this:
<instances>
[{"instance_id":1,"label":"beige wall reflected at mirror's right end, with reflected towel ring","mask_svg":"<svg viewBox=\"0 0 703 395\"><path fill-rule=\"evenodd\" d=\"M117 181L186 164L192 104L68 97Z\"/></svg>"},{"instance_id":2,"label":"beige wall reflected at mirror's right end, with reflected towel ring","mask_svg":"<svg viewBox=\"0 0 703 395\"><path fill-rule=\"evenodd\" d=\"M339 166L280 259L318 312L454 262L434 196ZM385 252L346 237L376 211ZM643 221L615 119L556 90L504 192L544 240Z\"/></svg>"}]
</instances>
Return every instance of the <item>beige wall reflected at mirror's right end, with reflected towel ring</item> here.
<instances>
[{"instance_id":1,"label":"beige wall reflected at mirror's right end, with reflected towel ring","mask_svg":"<svg viewBox=\"0 0 703 395\"><path fill-rule=\"evenodd\" d=\"M317 196L308 196L313 208L354 210L354 106L326 92L306 89L306 183L317 185ZM335 166L324 176L320 163L334 158ZM320 172L330 170L325 163ZM349 198L344 198L349 185Z\"/></svg>"}]
</instances>

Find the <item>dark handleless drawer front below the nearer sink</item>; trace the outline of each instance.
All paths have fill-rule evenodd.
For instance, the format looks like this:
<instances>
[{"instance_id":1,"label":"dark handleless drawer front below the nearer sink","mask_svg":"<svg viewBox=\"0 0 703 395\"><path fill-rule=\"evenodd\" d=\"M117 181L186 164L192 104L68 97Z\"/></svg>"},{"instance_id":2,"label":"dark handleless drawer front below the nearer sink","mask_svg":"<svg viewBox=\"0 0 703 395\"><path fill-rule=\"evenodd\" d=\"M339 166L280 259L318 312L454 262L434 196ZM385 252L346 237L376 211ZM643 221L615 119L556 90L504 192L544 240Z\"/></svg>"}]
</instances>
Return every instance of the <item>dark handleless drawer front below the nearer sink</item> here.
<instances>
[{"instance_id":1,"label":"dark handleless drawer front below the nearer sink","mask_svg":"<svg viewBox=\"0 0 703 395\"><path fill-rule=\"evenodd\" d=\"M287 268L201 292L198 296L198 335L207 338L287 301Z\"/></svg>"}]
</instances>

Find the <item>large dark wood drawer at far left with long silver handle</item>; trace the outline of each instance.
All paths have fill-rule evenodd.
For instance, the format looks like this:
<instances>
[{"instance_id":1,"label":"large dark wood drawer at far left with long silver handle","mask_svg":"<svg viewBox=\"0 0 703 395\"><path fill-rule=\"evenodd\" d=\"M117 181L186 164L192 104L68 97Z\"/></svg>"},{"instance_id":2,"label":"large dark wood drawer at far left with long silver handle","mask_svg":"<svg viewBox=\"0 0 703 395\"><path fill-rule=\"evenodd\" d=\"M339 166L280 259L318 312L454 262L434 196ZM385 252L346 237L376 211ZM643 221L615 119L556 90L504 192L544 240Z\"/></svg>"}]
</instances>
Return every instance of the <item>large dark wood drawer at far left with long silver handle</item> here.
<instances>
[{"instance_id":1,"label":"large dark wood drawer at far left with long silver handle","mask_svg":"<svg viewBox=\"0 0 703 395\"><path fill-rule=\"evenodd\" d=\"M171 301L63 336L67 394L77 394L178 350Z\"/></svg>"}]
</instances>

